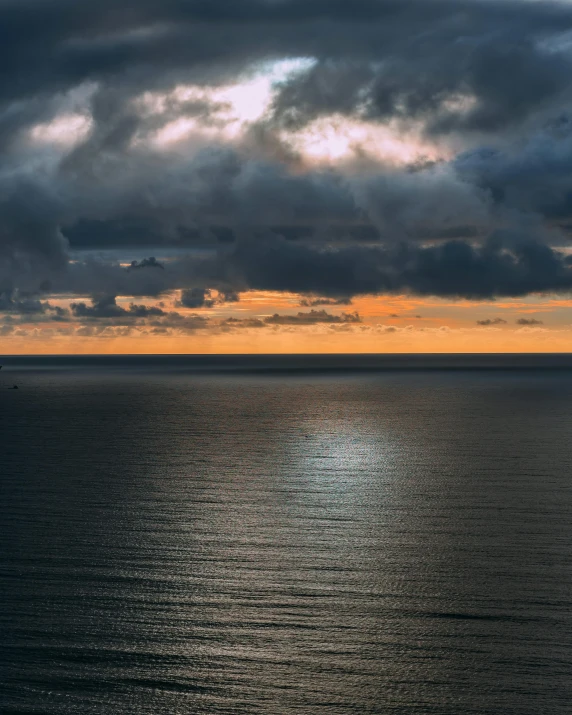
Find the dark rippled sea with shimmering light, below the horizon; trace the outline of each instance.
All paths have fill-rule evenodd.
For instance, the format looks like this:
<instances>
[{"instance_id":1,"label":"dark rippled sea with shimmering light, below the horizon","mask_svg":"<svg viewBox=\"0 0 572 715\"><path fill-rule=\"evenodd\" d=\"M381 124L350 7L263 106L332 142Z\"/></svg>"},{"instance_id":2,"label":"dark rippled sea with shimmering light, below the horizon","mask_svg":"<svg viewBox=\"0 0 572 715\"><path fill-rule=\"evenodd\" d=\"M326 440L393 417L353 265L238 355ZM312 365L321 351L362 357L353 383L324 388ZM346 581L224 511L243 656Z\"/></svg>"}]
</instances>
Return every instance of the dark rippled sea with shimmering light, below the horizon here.
<instances>
[{"instance_id":1,"label":"dark rippled sea with shimmering light, below the horizon","mask_svg":"<svg viewBox=\"0 0 572 715\"><path fill-rule=\"evenodd\" d=\"M572 359L336 359L2 361L2 715L572 712Z\"/></svg>"}]
</instances>

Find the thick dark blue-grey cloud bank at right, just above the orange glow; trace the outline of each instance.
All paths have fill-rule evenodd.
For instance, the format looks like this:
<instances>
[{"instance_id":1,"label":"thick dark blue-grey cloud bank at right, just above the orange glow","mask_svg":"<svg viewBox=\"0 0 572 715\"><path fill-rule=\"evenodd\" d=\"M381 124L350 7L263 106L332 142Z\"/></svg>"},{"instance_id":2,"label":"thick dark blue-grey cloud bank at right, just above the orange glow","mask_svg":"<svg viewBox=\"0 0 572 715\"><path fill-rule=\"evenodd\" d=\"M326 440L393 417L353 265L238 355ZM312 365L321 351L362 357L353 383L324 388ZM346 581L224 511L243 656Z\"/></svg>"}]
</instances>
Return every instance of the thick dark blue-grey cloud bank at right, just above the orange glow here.
<instances>
[{"instance_id":1,"label":"thick dark blue-grey cloud bank at right, just above the orange glow","mask_svg":"<svg viewBox=\"0 0 572 715\"><path fill-rule=\"evenodd\" d=\"M226 265L249 288L332 297L387 292L487 299L572 289L563 253L510 234L474 246L454 241L337 250L282 239L245 241Z\"/></svg>"}]
</instances>

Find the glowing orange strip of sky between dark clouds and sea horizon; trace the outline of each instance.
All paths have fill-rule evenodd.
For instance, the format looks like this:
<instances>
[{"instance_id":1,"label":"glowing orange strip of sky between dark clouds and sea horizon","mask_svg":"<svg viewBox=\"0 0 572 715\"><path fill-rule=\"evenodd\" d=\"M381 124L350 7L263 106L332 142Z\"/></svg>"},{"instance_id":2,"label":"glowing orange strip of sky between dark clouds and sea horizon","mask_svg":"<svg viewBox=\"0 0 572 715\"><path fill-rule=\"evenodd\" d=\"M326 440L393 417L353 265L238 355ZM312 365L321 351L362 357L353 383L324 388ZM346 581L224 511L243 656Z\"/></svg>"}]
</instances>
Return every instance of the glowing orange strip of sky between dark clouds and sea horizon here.
<instances>
[{"instance_id":1,"label":"glowing orange strip of sky between dark clouds and sea horizon","mask_svg":"<svg viewBox=\"0 0 572 715\"><path fill-rule=\"evenodd\" d=\"M101 328L90 335L83 326L22 322L0 338L5 354L86 353L448 353L572 352L572 300L553 296L494 302L422 299L410 296L356 298L350 305L301 305L302 296L249 292L238 303L183 315L208 319L205 329L157 335L137 326ZM69 301L60 301L65 306ZM127 307L129 298L118 299ZM139 301L141 302L141 301ZM146 301L148 305L153 303ZM176 305L176 296L165 307ZM248 327L247 321L310 310L329 316L356 314L359 322ZM231 318L243 321L227 324ZM520 321L520 322L519 322ZM483 323L483 324L479 324Z\"/></svg>"}]
</instances>

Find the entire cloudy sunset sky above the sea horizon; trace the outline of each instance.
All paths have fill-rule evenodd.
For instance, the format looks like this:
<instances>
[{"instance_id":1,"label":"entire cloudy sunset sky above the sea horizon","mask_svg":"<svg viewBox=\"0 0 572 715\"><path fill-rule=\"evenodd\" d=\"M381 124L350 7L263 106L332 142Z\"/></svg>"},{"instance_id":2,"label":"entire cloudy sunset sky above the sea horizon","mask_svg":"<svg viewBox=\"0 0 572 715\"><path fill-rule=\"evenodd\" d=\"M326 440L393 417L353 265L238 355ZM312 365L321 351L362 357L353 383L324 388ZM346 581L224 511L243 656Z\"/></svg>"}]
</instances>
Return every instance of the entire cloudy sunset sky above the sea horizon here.
<instances>
[{"instance_id":1,"label":"entire cloudy sunset sky above the sea horizon","mask_svg":"<svg viewBox=\"0 0 572 715\"><path fill-rule=\"evenodd\" d=\"M572 3L0 0L0 353L572 352Z\"/></svg>"}]
</instances>

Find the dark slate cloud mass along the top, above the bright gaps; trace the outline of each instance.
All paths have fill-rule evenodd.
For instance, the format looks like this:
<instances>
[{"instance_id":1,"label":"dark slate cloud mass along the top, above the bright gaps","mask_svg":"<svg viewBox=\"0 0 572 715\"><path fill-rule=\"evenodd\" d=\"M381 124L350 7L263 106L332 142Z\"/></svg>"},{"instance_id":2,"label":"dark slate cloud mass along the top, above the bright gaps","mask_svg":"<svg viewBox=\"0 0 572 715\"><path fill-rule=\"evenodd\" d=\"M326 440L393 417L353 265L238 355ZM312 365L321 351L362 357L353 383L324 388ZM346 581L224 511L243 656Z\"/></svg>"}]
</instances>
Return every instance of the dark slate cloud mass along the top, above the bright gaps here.
<instances>
[{"instance_id":1,"label":"dark slate cloud mass along the top, above the bright gaps","mask_svg":"<svg viewBox=\"0 0 572 715\"><path fill-rule=\"evenodd\" d=\"M285 85L280 115L428 112L492 130L567 88L566 52L545 41L571 27L565 4L514 0L4 0L0 101L85 82L124 92L189 76L212 82L305 56L318 64ZM459 93L477 98L464 118L446 107Z\"/></svg>"}]
</instances>

